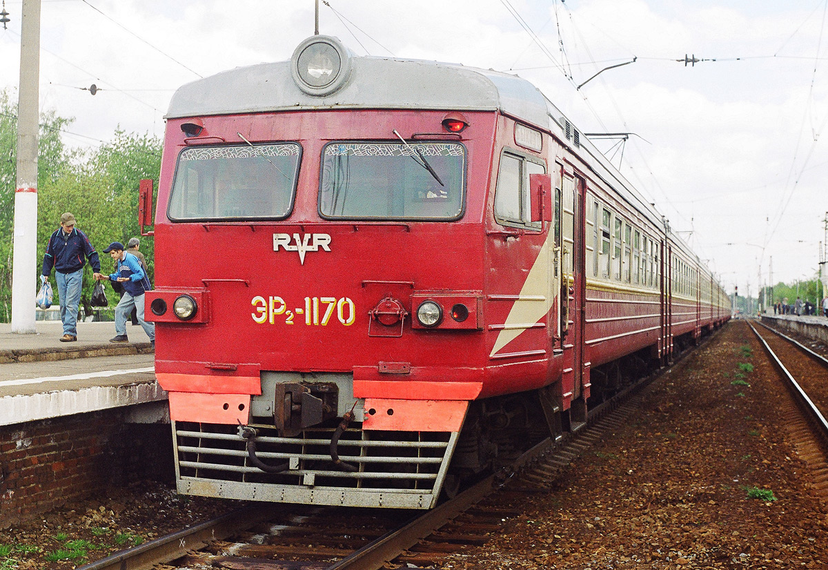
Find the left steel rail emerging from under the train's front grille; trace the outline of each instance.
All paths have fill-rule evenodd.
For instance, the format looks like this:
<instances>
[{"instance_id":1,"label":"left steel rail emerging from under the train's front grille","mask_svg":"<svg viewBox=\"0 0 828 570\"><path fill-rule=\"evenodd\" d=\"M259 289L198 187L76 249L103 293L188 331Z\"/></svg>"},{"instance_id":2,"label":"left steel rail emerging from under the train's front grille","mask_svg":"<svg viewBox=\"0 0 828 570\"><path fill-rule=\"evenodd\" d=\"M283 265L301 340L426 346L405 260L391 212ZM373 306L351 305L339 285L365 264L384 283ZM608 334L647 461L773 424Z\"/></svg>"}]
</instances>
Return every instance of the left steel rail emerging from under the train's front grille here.
<instances>
[{"instance_id":1,"label":"left steel rail emerging from under the train's front grille","mask_svg":"<svg viewBox=\"0 0 828 570\"><path fill-rule=\"evenodd\" d=\"M136 548L128 548L101 558L94 563L84 564L77 570L152 570L156 564L168 563L184 556L188 550L202 548L213 540L227 538L254 524L272 517L271 508L252 506L234 510L215 519L181 529L150 540Z\"/></svg>"}]
</instances>

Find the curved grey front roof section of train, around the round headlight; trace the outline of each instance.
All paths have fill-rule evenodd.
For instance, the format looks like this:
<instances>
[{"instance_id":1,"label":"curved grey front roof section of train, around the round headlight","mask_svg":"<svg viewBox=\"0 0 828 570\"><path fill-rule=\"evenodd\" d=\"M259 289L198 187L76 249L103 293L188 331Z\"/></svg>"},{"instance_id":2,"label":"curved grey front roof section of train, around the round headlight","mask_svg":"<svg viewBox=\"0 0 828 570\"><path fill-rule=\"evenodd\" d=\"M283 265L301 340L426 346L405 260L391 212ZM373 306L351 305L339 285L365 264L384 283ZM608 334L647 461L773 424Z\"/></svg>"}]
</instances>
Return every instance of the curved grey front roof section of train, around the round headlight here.
<instances>
[{"instance_id":1,"label":"curved grey front roof section of train, around the round headlight","mask_svg":"<svg viewBox=\"0 0 828 570\"><path fill-rule=\"evenodd\" d=\"M238 67L181 87L166 118L301 109L500 110L548 129L546 99L527 80L492 70L436 61L354 57L342 89L304 93L291 62Z\"/></svg>"}]
</instances>

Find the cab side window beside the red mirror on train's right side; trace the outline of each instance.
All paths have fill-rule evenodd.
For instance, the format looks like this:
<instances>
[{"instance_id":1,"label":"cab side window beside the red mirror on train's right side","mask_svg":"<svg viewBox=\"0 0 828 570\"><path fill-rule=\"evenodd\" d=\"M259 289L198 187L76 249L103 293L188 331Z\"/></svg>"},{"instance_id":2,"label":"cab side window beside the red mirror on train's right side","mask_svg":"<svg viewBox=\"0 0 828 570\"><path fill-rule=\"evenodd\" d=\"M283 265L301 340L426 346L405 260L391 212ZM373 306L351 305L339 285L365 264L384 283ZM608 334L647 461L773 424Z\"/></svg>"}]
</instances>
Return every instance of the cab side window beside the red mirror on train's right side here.
<instances>
[{"instance_id":1,"label":"cab side window beside the red mirror on train's right side","mask_svg":"<svg viewBox=\"0 0 828 570\"><path fill-rule=\"evenodd\" d=\"M498 224L542 229L541 222L532 222L532 200L537 200L537 196L530 191L529 175L544 172L546 167L538 162L503 152L494 191L494 219Z\"/></svg>"}]
</instances>

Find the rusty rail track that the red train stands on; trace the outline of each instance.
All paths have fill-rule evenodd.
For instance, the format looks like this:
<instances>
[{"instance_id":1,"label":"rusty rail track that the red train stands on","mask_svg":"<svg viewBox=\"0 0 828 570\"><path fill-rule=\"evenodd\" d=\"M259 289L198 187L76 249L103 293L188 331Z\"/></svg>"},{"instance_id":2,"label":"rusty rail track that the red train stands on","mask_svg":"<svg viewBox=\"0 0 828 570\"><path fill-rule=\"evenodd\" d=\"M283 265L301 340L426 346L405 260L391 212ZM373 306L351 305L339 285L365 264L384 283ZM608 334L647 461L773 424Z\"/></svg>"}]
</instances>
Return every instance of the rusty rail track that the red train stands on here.
<instances>
[{"instance_id":1,"label":"rusty rail track that the red train stands on","mask_svg":"<svg viewBox=\"0 0 828 570\"><path fill-rule=\"evenodd\" d=\"M687 351L689 352L689 351ZM682 355L683 356L683 355ZM590 422L558 441L551 438L517 457L436 509L355 510L307 505L256 505L114 553L78 570L226 568L229 570L374 570L439 565L463 545L521 514L521 496L544 494L575 458L621 428L638 394L670 370L650 374L590 411Z\"/></svg>"}]
</instances>

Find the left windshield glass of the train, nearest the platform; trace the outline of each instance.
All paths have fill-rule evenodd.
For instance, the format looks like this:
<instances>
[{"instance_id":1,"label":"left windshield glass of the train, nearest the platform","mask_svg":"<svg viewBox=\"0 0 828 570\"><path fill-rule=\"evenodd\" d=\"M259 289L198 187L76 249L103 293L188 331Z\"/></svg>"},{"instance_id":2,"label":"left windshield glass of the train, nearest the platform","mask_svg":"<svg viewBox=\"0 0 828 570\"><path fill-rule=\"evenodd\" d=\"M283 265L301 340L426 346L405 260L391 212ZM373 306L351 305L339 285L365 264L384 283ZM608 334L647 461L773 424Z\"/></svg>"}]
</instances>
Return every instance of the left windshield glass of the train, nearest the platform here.
<instances>
[{"instance_id":1,"label":"left windshield glass of the train, nearest the platform","mask_svg":"<svg viewBox=\"0 0 828 570\"><path fill-rule=\"evenodd\" d=\"M300 158L296 142L186 148L178 156L170 219L285 218L293 206Z\"/></svg>"}]
</instances>

